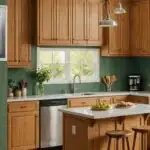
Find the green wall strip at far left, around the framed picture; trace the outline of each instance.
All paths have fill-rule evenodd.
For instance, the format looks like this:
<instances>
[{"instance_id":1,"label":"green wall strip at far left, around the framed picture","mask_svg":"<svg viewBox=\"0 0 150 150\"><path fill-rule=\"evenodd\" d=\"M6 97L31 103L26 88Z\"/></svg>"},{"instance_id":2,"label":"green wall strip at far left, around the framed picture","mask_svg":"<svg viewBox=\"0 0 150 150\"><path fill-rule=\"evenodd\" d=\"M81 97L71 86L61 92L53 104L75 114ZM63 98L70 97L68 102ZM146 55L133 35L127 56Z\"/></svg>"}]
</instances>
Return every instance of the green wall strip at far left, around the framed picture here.
<instances>
[{"instance_id":1,"label":"green wall strip at far left, around the framed picture","mask_svg":"<svg viewBox=\"0 0 150 150\"><path fill-rule=\"evenodd\" d=\"M0 0L4 5L5 0ZM0 150L7 150L7 64L0 62Z\"/></svg>"}]
</instances>

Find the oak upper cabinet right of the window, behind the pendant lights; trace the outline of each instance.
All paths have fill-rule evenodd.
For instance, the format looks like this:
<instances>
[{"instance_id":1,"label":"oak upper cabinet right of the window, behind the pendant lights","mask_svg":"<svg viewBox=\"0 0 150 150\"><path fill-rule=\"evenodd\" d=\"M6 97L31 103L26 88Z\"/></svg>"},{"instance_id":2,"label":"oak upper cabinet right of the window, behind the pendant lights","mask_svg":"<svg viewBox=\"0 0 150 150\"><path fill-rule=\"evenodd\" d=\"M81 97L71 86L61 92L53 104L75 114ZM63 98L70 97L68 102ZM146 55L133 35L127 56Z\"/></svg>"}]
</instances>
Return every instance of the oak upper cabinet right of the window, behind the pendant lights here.
<instances>
[{"instance_id":1,"label":"oak upper cabinet right of the window, behind the pendant lights","mask_svg":"<svg viewBox=\"0 0 150 150\"><path fill-rule=\"evenodd\" d=\"M126 9L125 14L114 14L113 10L117 6L117 1L110 1L111 17L118 23L118 26L104 28L103 38L104 45L101 50L102 56L129 56L129 14L130 3L123 1L123 7Z\"/></svg>"}]
</instances>

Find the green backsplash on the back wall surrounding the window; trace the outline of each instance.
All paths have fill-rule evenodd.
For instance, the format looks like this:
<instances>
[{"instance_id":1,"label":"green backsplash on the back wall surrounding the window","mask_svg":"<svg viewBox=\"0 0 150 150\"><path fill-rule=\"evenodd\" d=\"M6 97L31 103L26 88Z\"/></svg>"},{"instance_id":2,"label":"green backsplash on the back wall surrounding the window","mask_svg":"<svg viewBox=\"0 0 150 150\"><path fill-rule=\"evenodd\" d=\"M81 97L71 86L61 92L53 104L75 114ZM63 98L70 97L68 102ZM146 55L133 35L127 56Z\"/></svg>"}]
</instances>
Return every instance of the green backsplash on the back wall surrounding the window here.
<instances>
[{"instance_id":1,"label":"green backsplash on the back wall surrounding the window","mask_svg":"<svg viewBox=\"0 0 150 150\"><path fill-rule=\"evenodd\" d=\"M36 47L32 48L32 66L36 67ZM113 90L127 90L127 76L133 70L129 69L131 59L127 57L100 57L100 75L116 74L118 81L114 84ZM16 81L27 80L28 95L35 94L35 80L30 75L31 69L8 69L8 78ZM56 94L69 92L70 84L46 84L45 94ZM82 83L76 84L77 92L97 92L105 91L105 87L100 83Z\"/></svg>"}]
</instances>

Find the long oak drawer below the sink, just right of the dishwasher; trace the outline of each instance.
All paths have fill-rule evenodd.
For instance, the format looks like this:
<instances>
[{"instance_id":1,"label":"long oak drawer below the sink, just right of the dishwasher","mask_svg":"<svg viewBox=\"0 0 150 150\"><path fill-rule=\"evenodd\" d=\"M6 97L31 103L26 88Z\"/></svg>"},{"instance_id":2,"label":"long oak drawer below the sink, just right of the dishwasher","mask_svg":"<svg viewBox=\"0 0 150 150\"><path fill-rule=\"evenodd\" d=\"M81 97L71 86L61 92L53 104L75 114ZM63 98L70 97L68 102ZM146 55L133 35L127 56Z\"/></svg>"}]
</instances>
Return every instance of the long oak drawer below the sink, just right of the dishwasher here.
<instances>
[{"instance_id":1,"label":"long oak drawer below the sink, just right of the dishwasher","mask_svg":"<svg viewBox=\"0 0 150 150\"><path fill-rule=\"evenodd\" d=\"M68 99L68 107L87 107L96 104L98 97Z\"/></svg>"}]
</instances>

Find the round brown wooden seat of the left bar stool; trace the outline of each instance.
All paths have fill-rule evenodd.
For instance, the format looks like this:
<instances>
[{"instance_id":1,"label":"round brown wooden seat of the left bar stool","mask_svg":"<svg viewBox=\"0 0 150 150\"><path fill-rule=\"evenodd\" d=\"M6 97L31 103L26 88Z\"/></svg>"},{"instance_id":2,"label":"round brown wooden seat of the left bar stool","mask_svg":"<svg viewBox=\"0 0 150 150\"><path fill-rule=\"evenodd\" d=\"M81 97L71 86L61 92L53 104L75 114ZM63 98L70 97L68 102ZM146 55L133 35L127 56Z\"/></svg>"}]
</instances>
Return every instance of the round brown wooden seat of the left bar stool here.
<instances>
[{"instance_id":1,"label":"round brown wooden seat of the left bar stool","mask_svg":"<svg viewBox=\"0 0 150 150\"><path fill-rule=\"evenodd\" d=\"M123 138L132 135L132 132L130 130L113 130L108 131L106 135L112 138Z\"/></svg>"}]
</instances>

